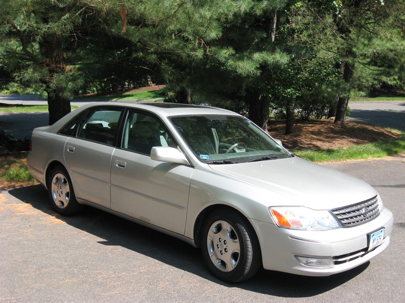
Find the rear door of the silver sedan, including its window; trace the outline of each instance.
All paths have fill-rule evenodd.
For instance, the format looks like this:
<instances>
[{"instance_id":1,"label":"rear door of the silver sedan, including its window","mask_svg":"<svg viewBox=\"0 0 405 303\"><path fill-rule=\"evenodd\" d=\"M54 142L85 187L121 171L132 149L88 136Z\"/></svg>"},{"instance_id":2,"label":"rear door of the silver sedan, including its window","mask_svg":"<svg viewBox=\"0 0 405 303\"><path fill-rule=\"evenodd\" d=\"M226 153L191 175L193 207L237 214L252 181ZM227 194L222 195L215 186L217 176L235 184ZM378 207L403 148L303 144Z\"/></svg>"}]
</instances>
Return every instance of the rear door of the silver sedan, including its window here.
<instances>
[{"instance_id":1,"label":"rear door of the silver sedan, including its window","mask_svg":"<svg viewBox=\"0 0 405 303\"><path fill-rule=\"evenodd\" d=\"M78 199L110 208L111 156L122 109L91 109L65 143L64 157Z\"/></svg>"}]
</instances>

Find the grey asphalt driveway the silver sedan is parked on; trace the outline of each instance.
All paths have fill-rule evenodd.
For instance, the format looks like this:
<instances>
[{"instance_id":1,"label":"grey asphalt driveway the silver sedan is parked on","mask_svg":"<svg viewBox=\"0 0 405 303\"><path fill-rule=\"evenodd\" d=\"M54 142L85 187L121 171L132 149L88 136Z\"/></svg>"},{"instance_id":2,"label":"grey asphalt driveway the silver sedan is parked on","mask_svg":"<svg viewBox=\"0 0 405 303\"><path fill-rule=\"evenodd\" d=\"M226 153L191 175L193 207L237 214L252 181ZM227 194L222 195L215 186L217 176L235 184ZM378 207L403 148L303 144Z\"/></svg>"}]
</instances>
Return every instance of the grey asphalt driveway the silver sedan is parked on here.
<instances>
[{"instance_id":1,"label":"grey asphalt driveway the silver sedan is parked on","mask_svg":"<svg viewBox=\"0 0 405 303\"><path fill-rule=\"evenodd\" d=\"M405 155L330 163L374 185L395 216L390 246L331 277L271 271L235 285L213 278L198 249L104 212L62 218L41 185L0 194L4 302L402 302ZM276 243L275 243L276 244Z\"/></svg>"}]
</instances>

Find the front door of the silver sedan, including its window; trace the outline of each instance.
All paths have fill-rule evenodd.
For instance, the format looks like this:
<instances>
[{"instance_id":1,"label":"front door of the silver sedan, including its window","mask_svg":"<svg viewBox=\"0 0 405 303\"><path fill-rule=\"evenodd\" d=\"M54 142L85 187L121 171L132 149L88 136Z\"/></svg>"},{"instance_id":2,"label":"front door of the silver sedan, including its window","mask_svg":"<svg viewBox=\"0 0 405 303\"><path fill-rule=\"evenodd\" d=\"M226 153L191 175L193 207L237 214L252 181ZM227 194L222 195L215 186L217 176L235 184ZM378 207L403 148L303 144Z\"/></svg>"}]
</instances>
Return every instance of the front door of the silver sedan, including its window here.
<instances>
[{"instance_id":1,"label":"front door of the silver sedan, including its window","mask_svg":"<svg viewBox=\"0 0 405 303\"><path fill-rule=\"evenodd\" d=\"M150 159L153 146L177 146L161 121L130 111L111 161L111 209L184 234L191 166Z\"/></svg>"}]
</instances>

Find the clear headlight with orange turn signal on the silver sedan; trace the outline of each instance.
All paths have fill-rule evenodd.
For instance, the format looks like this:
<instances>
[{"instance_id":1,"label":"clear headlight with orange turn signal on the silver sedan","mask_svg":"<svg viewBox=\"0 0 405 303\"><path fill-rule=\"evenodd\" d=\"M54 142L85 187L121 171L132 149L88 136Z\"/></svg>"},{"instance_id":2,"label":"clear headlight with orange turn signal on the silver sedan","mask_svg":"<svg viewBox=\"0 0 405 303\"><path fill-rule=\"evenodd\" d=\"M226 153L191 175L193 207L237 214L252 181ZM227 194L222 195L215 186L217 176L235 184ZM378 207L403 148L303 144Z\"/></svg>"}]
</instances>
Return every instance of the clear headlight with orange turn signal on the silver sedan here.
<instances>
[{"instance_id":1,"label":"clear headlight with orange turn signal on the silver sedan","mask_svg":"<svg viewBox=\"0 0 405 303\"><path fill-rule=\"evenodd\" d=\"M329 230L340 224L327 210L306 207L270 207L270 215L279 227L298 230Z\"/></svg>"}]
</instances>

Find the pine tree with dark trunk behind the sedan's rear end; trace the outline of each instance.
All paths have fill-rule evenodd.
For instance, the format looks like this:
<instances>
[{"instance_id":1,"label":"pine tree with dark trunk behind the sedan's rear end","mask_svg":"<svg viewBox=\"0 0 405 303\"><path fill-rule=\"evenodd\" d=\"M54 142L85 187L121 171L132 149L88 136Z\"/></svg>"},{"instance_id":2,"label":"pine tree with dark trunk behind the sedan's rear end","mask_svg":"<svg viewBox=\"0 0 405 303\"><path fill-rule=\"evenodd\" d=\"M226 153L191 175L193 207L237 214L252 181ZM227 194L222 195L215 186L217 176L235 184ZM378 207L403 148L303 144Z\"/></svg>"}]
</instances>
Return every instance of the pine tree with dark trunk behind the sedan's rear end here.
<instances>
[{"instance_id":1,"label":"pine tree with dark trunk behind the sedan's rear end","mask_svg":"<svg viewBox=\"0 0 405 303\"><path fill-rule=\"evenodd\" d=\"M97 41L117 41L119 9L96 0L3 0L1 5L1 67L14 81L45 90L53 124L70 112L70 99L84 84L80 65L101 66L91 61L106 54Z\"/></svg>"}]
</instances>

